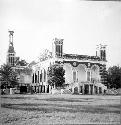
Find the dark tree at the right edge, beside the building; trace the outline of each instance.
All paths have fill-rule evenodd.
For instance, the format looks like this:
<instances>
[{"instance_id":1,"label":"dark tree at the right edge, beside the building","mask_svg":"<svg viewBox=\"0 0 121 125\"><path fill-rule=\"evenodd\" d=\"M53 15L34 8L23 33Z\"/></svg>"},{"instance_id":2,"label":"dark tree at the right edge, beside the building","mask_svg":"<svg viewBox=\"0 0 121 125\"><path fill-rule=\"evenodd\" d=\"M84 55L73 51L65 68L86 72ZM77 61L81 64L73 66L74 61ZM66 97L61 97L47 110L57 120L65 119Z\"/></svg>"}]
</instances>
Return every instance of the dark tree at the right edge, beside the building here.
<instances>
[{"instance_id":1,"label":"dark tree at the right edge, beside the building","mask_svg":"<svg viewBox=\"0 0 121 125\"><path fill-rule=\"evenodd\" d=\"M121 67L113 66L109 67L107 82L109 88L121 88Z\"/></svg>"}]
</instances>

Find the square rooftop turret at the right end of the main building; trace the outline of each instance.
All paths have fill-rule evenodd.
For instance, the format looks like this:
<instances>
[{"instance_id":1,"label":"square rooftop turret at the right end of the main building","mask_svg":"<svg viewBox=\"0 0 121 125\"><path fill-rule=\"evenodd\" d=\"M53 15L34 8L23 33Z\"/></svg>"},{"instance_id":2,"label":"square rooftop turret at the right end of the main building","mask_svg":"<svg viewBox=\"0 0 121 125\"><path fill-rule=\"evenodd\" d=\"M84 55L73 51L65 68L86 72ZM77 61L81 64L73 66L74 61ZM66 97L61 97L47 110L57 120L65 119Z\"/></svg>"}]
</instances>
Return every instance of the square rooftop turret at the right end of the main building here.
<instances>
[{"instance_id":1,"label":"square rooftop turret at the right end of the main building","mask_svg":"<svg viewBox=\"0 0 121 125\"><path fill-rule=\"evenodd\" d=\"M106 61L106 45L97 45L96 56L99 56L101 60Z\"/></svg>"}]
</instances>

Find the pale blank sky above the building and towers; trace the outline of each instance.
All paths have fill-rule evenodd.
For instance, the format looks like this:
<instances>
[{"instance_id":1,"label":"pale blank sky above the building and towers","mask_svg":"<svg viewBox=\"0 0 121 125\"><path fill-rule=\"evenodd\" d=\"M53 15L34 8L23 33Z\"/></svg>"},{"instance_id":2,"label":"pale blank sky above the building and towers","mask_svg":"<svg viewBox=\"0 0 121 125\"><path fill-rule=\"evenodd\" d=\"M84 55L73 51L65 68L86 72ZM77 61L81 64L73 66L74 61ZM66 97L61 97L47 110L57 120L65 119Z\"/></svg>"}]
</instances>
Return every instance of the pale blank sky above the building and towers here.
<instances>
[{"instance_id":1,"label":"pale blank sky above the building and towers","mask_svg":"<svg viewBox=\"0 0 121 125\"><path fill-rule=\"evenodd\" d=\"M69 54L96 55L107 45L107 66L121 66L121 2L81 0L0 0L0 65L6 62L8 30L14 30L16 56L28 63L55 37Z\"/></svg>"}]
</instances>

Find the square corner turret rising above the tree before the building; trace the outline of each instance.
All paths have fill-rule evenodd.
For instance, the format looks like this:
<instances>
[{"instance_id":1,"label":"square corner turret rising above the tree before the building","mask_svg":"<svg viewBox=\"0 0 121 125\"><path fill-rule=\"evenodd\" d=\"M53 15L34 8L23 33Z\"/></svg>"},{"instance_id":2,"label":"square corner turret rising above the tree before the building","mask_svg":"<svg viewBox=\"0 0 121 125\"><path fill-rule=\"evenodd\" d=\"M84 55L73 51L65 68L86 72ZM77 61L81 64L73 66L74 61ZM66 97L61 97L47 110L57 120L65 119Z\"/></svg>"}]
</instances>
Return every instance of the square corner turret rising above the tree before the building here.
<instances>
[{"instance_id":1,"label":"square corner turret rising above the tree before the building","mask_svg":"<svg viewBox=\"0 0 121 125\"><path fill-rule=\"evenodd\" d=\"M63 39L55 38L52 47L53 57L63 57Z\"/></svg>"}]
</instances>

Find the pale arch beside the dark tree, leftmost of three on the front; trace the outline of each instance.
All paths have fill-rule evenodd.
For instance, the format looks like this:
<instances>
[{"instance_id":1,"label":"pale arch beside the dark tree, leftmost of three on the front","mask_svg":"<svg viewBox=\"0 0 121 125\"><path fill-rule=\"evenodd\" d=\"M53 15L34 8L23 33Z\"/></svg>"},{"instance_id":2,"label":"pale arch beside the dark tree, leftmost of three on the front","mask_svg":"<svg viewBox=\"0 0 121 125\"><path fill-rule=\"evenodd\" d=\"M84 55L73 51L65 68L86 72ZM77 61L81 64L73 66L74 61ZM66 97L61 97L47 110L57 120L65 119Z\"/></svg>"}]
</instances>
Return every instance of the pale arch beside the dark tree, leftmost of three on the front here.
<instances>
[{"instance_id":1,"label":"pale arch beside the dark tree, leftmost of three on the front","mask_svg":"<svg viewBox=\"0 0 121 125\"><path fill-rule=\"evenodd\" d=\"M73 72L72 72L72 66L71 64L64 64L63 66L65 70L65 83L72 83L73 82Z\"/></svg>"}]
</instances>

